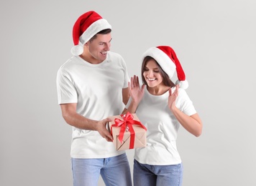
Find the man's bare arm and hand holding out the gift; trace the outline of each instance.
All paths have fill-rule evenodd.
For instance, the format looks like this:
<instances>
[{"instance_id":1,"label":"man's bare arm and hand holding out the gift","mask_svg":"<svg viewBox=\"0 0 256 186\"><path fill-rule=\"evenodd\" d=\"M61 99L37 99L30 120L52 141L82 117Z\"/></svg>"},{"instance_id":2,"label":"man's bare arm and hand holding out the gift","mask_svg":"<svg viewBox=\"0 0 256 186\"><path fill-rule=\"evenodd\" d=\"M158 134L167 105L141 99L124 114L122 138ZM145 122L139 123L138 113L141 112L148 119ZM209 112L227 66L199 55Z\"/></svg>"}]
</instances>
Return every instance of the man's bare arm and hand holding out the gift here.
<instances>
[{"instance_id":1,"label":"man's bare arm and hand holding out the gift","mask_svg":"<svg viewBox=\"0 0 256 186\"><path fill-rule=\"evenodd\" d=\"M65 122L71 126L79 129L95 130L98 131L106 141L111 142L113 140L113 137L106 129L106 122L110 122L111 119L106 118L101 121L96 121L83 117L76 112L76 103L60 104L60 107Z\"/></svg>"}]
</instances>

